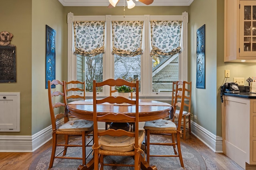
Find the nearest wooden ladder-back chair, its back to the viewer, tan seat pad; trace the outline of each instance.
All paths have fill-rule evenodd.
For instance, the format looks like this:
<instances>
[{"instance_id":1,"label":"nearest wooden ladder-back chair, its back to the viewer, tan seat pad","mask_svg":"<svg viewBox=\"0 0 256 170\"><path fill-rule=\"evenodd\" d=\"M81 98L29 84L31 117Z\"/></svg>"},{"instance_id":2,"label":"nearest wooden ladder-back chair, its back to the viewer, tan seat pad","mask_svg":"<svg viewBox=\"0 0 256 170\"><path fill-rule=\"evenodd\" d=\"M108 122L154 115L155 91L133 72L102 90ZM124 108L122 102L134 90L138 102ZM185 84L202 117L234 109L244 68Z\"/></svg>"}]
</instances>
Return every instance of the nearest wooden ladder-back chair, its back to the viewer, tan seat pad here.
<instances>
[{"instance_id":1,"label":"nearest wooden ladder-back chair, its back to the viewer, tan seat pad","mask_svg":"<svg viewBox=\"0 0 256 170\"><path fill-rule=\"evenodd\" d=\"M135 170L140 170L140 146L144 140L144 131L139 131L139 96L136 93L135 100L130 100L122 96L108 96L104 99L97 99L97 88L101 86L130 86L136 89L138 92L139 82L136 83L127 82L122 79L108 79L103 82L93 81L93 121L94 121L94 169L103 170L103 166L134 166ZM108 102L110 104L122 104L127 103L136 106L136 112L134 115L126 115L124 113L107 113L105 115L97 114L97 105ZM115 106L110 106L115 107ZM122 109L122 106L119 106ZM129 107L129 106L125 106ZM123 129L106 129L104 131L98 131L97 122L134 122L134 132L125 131ZM104 156L132 156L134 157L134 164L106 164L104 163ZM100 163L100 166L99 166Z\"/></svg>"}]
</instances>

